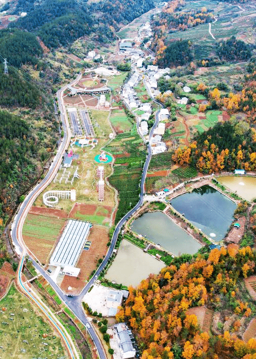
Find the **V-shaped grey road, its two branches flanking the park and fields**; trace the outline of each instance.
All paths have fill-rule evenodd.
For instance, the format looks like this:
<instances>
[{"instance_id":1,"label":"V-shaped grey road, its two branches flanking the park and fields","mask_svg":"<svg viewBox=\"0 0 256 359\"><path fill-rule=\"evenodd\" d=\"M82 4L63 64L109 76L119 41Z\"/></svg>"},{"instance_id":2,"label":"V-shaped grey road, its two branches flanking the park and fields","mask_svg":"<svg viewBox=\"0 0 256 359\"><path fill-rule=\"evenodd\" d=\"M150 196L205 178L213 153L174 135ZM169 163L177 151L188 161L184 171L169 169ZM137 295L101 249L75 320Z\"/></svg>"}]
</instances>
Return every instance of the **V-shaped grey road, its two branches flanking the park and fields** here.
<instances>
[{"instance_id":1,"label":"V-shaped grey road, its two branches flanking the park and fields","mask_svg":"<svg viewBox=\"0 0 256 359\"><path fill-rule=\"evenodd\" d=\"M125 216L117 223L114 233L113 233L111 244L109 246L109 250L108 250L103 262L100 264L100 266L96 270L93 277L90 279L90 281L87 283L85 288L82 290L82 292L78 296L74 296L73 298L70 298L67 295L63 294L63 292L60 290L60 288L57 286L57 284L51 279L51 277L47 274L47 272L38 264L37 258L35 258L33 253L31 253L29 251L29 249L26 247L26 245L23 241L23 238L22 238L23 223L25 221L25 218L27 216L27 213L28 213L30 207L32 206L36 197L52 181L53 177L55 176L55 174L58 170L60 162L62 160L62 155L69 146L70 128L69 128L69 122L68 122L68 118L67 118L66 109L65 109L65 106L62 101L62 94L63 94L63 91L65 91L67 89L67 86L75 84L77 81L80 80L81 76L82 75L79 74L79 76L72 83L62 87L57 92L58 107L59 107L59 111L60 111L60 121L62 123L64 136L60 142L56 156L53 159L53 162L48 170L48 173L46 174L44 179L41 182L39 182L34 187L34 189L32 189L29 192L29 194L26 196L25 200L22 202L20 208L18 209L18 212L17 212L16 216L14 217L14 220L12 223L11 237L12 237L12 241L14 244L14 249L15 249L17 255L21 258L22 263L24 260L24 253L27 253L28 256L30 257L30 259L32 260L32 263L35 266L35 268L50 283L50 285L52 286L54 291L58 294L58 296L61 298L61 300L63 302L65 302L65 304L74 312L74 314L77 316L77 318L86 326L89 334L91 335L92 340L94 341L95 346L97 347L100 359L106 359L107 356L106 356L104 348L101 344L101 341L100 341L99 337L97 336L96 332L94 331L94 329L90 326L89 321L88 321L88 319L84 313L84 310L82 308L81 302L82 302L84 295L88 292L88 290L90 289L92 284L97 280L100 272L104 269L105 265L107 264L108 259L112 255L112 252L113 252L116 240L117 240L117 236L120 232L121 227L124 225L124 223L127 221L127 219L129 219L138 210L138 208L143 203L144 183L145 183L145 178L147 175L149 163L150 163L151 156L152 156L150 144L148 144L148 154L147 154L147 158L146 158L146 161L145 161L145 164L143 167L143 172L142 172L140 199L139 199L138 203L136 204L136 206L134 208L132 208L128 213L126 213ZM156 112L155 122L154 122L153 127L150 130L149 139L152 137L154 129L158 125L159 111ZM20 279L20 285L21 284L22 284L22 282ZM33 298L31 298L31 299L33 300ZM65 338L65 340L66 340L66 338Z\"/></svg>"}]
</instances>

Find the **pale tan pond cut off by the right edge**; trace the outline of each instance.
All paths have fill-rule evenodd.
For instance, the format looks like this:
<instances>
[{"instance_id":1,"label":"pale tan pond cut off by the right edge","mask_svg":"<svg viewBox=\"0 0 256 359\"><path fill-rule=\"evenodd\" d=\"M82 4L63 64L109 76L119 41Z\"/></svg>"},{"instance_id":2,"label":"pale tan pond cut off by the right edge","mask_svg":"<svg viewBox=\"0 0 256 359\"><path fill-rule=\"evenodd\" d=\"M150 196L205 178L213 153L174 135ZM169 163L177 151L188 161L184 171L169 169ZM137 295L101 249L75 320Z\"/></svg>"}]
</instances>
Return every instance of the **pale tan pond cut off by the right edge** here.
<instances>
[{"instance_id":1,"label":"pale tan pond cut off by the right edge","mask_svg":"<svg viewBox=\"0 0 256 359\"><path fill-rule=\"evenodd\" d=\"M220 176L217 181L224 184L239 197L251 202L256 198L256 178L255 177L236 177Z\"/></svg>"}]
</instances>

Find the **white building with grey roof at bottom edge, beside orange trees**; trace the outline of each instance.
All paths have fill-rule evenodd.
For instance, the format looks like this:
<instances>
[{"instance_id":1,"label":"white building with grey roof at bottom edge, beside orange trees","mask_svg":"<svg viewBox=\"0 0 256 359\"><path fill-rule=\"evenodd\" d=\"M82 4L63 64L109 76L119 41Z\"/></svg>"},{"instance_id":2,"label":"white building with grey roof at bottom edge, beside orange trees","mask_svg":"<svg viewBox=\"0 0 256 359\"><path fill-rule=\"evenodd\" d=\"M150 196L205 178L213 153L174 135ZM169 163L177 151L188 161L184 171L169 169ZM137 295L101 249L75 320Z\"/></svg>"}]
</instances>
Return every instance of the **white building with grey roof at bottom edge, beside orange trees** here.
<instances>
[{"instance_id":1,"label":"white building with grey roof at bottom edge, beside orange trees","mask_svg":"<svg viewBox=\"0 0 256 359\"><path fill-rule=\"evenodd\" d=\"M131 340L131 337L133 338L133 333L129 330L126 323L115 324L114 334L120 349L121 358L134 358L136 355L136 349Z\"/></svg>"}]
</instances>

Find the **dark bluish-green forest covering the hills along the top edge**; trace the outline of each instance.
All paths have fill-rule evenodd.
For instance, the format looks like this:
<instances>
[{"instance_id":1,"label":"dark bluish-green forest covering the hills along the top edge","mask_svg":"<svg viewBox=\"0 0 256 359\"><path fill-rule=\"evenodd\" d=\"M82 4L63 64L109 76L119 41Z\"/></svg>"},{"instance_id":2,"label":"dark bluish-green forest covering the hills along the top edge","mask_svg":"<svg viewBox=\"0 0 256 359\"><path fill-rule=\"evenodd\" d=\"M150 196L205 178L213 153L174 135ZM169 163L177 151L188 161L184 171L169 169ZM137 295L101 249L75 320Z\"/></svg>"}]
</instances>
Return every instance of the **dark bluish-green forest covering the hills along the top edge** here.
<instances>
[{"instance_id":1,"label":"dark bluish-green forest covering the hills along the top edge","mask_svg":"<svg viewBox=\"0 0 256 359\"><path fill-rule=\"evenodd\" d=\"M49 48L67 46L76 39L95 34L95 40L109 42L113 29L132 21L154 6L152 0L116 0L88 4L77 0L18 0L13 11L28 12L11 26L30 31L40 37ZM129 8L129 11L126 9Z\"/></svg>"}]
</instances>

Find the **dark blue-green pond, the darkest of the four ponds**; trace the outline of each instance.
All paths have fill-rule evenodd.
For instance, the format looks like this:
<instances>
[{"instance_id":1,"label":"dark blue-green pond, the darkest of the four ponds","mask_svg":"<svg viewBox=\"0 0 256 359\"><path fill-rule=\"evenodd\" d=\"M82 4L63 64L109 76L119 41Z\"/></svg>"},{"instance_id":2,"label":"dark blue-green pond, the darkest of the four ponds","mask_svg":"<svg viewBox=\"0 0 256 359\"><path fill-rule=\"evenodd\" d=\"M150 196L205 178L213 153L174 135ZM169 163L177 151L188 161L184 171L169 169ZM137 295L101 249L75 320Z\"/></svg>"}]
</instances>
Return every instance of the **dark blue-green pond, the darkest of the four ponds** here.
<instances>
[{"instance_id":1,"label":"dark blue-green pond, the darkest of the four ponds","mask_svg":"<svg viewBox=\"0 0 256 359\"><path fill-rule=\"evenodd\" d=\"M232 221L236 204L211 186L202 186L171 200L171 205L215 241L221 241Z\"/></svg>"}]
</instances>

